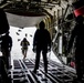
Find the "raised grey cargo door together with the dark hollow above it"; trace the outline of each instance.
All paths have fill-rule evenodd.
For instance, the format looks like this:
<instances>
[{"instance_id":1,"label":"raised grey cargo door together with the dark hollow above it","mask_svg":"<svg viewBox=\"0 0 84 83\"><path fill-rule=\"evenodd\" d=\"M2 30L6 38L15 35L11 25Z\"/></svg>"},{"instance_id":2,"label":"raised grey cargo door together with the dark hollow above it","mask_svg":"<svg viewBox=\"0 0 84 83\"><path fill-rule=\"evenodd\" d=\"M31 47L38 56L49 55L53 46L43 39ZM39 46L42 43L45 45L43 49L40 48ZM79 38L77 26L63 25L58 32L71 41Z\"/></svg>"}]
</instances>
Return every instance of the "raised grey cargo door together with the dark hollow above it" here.
<instances>
[{"instance_id":1,"label":"raised grey cargo door together with the dark hollow above it","mask_svg":"<svg viewBox=\"0 0 84 83\"><path fill-rule=\"evenodd\" d=\"M19 1L17 3L10 3L4 7L10 25L19 28L34 27L45 18L45 14L39 10L39 7L32 6L29 8L24 3L21 4Z\"/></svg>"}]
</instances>

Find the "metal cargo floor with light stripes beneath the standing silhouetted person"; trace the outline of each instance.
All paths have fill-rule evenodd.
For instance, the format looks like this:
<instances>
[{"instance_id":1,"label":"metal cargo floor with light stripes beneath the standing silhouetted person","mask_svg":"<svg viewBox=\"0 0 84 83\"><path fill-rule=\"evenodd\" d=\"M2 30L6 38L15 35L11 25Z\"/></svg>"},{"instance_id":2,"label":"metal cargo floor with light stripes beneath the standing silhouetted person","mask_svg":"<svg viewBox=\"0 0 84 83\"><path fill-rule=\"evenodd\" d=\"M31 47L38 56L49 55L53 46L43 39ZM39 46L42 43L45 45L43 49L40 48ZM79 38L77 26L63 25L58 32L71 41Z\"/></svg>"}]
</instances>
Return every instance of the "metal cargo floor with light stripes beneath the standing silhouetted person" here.
<instances>
[{"instance_id":1,"label":"metal cargo floor with light stripes beneath the standing silhouetted person","mask_svg":"<svg viewBox=\"0 0 84 83\"><path fill-rule=\"evenodd\" d=\"M42 60L38 73L34 74L34 61L13 60L13 68L9 72L11 83L73 83L73 79L76 77L73 69L52 60L49 60L48 74L44 73Z\"/></svg>"}]
</instances>

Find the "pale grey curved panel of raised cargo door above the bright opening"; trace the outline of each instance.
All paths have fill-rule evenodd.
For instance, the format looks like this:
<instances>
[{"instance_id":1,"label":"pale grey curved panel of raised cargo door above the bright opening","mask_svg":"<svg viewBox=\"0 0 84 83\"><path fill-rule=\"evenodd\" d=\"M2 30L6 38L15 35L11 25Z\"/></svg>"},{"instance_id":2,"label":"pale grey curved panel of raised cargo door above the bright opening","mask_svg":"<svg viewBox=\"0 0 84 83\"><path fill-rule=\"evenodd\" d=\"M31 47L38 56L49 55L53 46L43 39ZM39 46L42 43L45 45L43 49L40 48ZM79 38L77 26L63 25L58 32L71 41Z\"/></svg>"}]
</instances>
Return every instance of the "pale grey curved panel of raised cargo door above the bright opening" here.
<instances>
[{"instance_id":1,"label":"pale grey curved panel of raised cargo door above the bright opening","mask_svg":"<svg viewBox=\"0 0 84 83\"><path fill-rule=\"evenodd\" d=\"M23 15L17 15L17 14L12 14L12 13L7 12L7 18L8 18L10 25L25 28L25 27L34 27L40 21L42 21L45 18L45 15L23 17Z\"/></svg>"}]
</instances>

